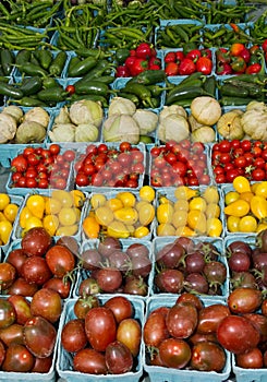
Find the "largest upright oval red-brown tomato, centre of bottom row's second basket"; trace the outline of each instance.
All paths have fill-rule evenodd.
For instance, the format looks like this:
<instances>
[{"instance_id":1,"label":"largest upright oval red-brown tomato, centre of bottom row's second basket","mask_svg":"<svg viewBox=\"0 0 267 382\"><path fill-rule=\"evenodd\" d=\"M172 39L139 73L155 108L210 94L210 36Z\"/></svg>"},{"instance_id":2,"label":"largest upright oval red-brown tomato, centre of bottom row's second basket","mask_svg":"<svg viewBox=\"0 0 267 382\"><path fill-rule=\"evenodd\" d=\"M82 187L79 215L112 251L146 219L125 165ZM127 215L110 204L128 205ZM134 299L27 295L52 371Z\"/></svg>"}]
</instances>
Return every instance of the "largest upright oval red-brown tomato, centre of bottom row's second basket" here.
<instances>
[{"instance_id":1,"label":"largest upright oval red-brown tomato, centre of bottom row's second basket","mask_svg":"<svg viewBox=\"0 0 267 382\"><path fill-rule=\"evenodd\" d=\"M85 317L85 333L90 346L97 351L105 351L116 341L117 323L109 308L90 309Z\"/></svg>"}]
</instances>

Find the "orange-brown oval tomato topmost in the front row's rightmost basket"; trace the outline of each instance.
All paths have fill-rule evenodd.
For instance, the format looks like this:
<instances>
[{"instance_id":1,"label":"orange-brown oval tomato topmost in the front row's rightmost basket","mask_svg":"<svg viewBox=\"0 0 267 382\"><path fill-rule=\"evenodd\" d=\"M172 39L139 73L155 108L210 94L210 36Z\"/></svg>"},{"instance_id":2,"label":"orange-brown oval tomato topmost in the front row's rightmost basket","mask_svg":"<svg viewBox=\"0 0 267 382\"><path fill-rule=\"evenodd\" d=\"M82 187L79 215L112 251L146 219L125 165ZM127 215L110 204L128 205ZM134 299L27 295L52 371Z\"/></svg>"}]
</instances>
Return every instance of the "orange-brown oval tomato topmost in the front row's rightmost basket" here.
<instances>
[{"instance_id":1,"label":"orange-brown oval tomato topmost in the front row's rightmost basket","mask_svg":"<svg viewBox=\"0 0 267 382\"><path fill-rule=\"evenodd\" d=\"M232 313L252 313L260 307L263 294L255 288L236 288L228 296L228 306Z\"/></svg>"}]
</instances>

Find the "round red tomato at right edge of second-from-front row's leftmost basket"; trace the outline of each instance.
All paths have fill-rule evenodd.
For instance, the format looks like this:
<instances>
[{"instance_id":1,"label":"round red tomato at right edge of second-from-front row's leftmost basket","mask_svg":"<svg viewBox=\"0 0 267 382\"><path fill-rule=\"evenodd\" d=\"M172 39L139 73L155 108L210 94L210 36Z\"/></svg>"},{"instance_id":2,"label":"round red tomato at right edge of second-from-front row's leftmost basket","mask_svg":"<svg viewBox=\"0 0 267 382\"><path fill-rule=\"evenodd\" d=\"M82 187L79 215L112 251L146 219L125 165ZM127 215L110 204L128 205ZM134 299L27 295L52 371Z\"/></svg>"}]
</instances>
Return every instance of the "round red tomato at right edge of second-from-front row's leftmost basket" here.
<instances>
[{"instance_id":1,"label":"round red tomato at right edge of second-from-front row's leftmost basket","mask_svg":"<svg viewBox=\"0 0 267 382\"><path fill-rule=\"evenodd\" d=\"M51 273L57 277L63 277L75 266L73 253L68 248L59 244L51 247L46 252L46 261Z\"/></svg>"}]
</instances>

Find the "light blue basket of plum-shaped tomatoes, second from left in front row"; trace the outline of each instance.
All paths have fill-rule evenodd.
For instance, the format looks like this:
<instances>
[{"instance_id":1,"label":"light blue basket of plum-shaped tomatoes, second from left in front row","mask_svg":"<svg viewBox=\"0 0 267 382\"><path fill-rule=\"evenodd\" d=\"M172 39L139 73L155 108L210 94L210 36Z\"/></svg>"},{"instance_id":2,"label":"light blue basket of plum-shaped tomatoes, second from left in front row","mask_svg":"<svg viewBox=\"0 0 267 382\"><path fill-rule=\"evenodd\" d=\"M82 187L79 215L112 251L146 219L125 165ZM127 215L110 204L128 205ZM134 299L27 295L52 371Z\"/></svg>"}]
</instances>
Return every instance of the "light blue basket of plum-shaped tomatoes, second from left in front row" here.
<instances>
[{"instance_id":1,"label":"light blue basket of plum-shaped tomatoes, second from left in front row","mask_svg":"<svg viewBox=\"0 0 267 382\"><path fill-rule=\"evenodd\" d=\"M116 295L119 296L119 295ZM107 296L107 295L102 295L99 296L99 300L100 302L105 303L107 300L109 300L111 296ZM62 332L63 325L69 322L70 320L75 319L75 314L73 312L73 307L75 303L75 299L70 299L69 301L66 301L65 306L64 306L64 310L63 313L61 315L60 319L60 324L59 324L59 336ZM144 321L144 302L141 299L137 299L135 297L131 297L131 302L133 305L134 308L134 319L137 319L139 321L141 324L143 324ZM138 355L137 358L137 365L136 368L131 371L131 372L126 372L124 374L107 374L107 375L93 375L93 374L86 374L86 373L82 373L78 371L74 371L73 370L73 363L72 363L72 355L69 354L68 351L65 351L62 347L62 345L60 344L58 347L58 357L57 357L57 372L58 374L64 379L64 381L68 382L84 382L84 381L97 381L97 382L105 382L105 381L113 381L114 379L117 381L130 381L130 382L136 382L137 380L139 380L139 378L143 374L143 366L142 366L142 358L143 358L143 354L142 354L142 348L141 348L141 353Z\"/></svg>"}]
</instances>

